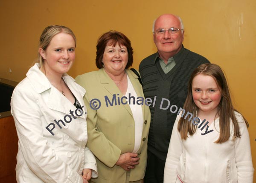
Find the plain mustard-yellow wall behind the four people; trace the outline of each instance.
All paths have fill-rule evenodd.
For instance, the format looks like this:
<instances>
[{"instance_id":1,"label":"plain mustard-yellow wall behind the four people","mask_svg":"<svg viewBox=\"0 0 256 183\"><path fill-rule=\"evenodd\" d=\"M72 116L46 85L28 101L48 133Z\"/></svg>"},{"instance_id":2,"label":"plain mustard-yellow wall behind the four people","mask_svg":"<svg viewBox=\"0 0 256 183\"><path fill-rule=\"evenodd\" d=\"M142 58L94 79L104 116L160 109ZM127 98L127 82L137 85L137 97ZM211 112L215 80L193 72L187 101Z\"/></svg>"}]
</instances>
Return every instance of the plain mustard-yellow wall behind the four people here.
<instances>
[{"instance_id":1,"label":"plain mustard-yellow wall behind the four people","mask_svg":"<svg viewBox=\"0 0 256 183\"><path fill-rule=\"evenodd\" d=\"M53 24L70 27L78 39L71 76L96 70L96 41L109 30L131 39L133 67L138 68L156 51L153 20L163 13L178 14L185 25L184 46L225 70L235 106L250 124L256 169L255 10L255 0L1 0L0 77L20 82L37 57L41 31Z\"/></svg>"}]
</instances>

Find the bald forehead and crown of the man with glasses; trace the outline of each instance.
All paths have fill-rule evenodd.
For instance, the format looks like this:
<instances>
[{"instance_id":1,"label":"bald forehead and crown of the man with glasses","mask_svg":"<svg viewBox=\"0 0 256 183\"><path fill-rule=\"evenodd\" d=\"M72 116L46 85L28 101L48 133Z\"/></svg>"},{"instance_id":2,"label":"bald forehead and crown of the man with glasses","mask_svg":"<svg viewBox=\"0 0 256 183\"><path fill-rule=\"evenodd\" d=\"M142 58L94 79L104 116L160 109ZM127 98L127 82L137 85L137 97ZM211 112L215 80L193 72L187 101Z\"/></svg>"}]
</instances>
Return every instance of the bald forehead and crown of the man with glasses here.
<instances>
[{"instance_id":1,"label":"bald forehead and crown of the man with glasses","mask_svg":"<svg viewBox=\"0 0 256 183\"><path fill-rule=\"evenodd\" d=\"M157 18L157 20L155 22L154 29L155 30L157 28L166 28L166 29L168 29L168 28L171 28L171 27L181 28L180 27L180 20L174 14L163 14L160 17Z\"/></svg>"}]
</instances>

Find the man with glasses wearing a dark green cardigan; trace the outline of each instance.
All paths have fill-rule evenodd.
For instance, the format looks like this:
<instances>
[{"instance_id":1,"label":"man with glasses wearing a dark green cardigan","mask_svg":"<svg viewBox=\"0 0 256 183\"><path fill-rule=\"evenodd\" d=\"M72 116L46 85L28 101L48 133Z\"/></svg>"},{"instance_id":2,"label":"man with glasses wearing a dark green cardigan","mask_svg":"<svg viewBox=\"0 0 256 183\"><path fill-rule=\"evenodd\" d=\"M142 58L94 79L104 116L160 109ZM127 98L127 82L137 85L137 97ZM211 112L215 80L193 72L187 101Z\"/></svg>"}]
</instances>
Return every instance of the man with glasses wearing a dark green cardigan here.
<instances>
[{"instance_id":1,"label":"man with glasses wearing a dark green cardigan","mask_svg":"<svg viewBox=\"0 0 256 183\"><path fill-rule=\"evenodd\" d=\"M144 183L163 183L163 172L172 128L177 112L187 96L187 86L195 68L209 61L182 45L184 26L180 17L163 14L155 20L153 38L157 47L154 53L140 63L145 98L151 98L151 124L148 135L148 162ZM168 99L167 100L162 99ZM176 105L178 110L176 113ZM171 112L172 111L172 112Z\"/></svg>"}]
</instances>

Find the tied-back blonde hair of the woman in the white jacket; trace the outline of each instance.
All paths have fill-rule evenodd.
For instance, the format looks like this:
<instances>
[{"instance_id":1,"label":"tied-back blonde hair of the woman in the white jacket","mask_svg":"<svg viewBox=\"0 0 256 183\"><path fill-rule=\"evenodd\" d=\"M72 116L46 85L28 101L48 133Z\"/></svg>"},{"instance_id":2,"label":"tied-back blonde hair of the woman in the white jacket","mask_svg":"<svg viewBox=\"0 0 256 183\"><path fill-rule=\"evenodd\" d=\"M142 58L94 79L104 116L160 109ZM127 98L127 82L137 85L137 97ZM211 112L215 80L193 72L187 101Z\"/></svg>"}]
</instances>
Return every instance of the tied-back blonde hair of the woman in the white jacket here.
<instances>
[{"instance_id":1,"label":"tied-back blonde hair of the woman in the white jacket","mask_svg":"<svg viewBox=\"0 0 256 183\"><path fill-rule=\"evenodd\" d=\"M70 28L62 26L62 25L49 25L48 27L46 27L44 29L44 31L41 34L39 48L42 48L45 51L46 48L48 47L49 43L51 42L52 38L56 34L59 34L61 32L70 34L75 40L75 47L76 47L76 36ZM39 49L38 49L38 62L40 63L41 68L43 68L44 59L41 56L41 54L39 53Z\"/></svg>"}]
</instances>

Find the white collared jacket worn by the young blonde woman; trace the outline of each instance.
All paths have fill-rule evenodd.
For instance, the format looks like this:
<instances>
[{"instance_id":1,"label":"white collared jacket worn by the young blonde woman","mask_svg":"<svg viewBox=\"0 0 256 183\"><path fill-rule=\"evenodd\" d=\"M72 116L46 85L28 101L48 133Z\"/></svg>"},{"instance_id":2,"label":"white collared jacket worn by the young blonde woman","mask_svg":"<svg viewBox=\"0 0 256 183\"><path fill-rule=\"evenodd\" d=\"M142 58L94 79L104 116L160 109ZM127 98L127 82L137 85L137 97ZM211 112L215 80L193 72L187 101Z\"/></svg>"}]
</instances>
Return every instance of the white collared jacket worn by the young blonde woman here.
<instances>
[{"instance_id":1,"label":"white collared jacket worn by the young blonde woman","mask_svg":"<svg viewBox=\"0 0 256 183\"><path fill-rule=\"evenodd\" d=\"M93 169L92 177L97 177L96 160L86 147L84 88L64 74L65 83L84 106L83 112L79 113L65 96L52 87L38 64L30 68L26 76L15 87L11 100L11 113L19 138L17 182L82 183L79 175L85 168Z\"/></svg>"}]
</instances>

